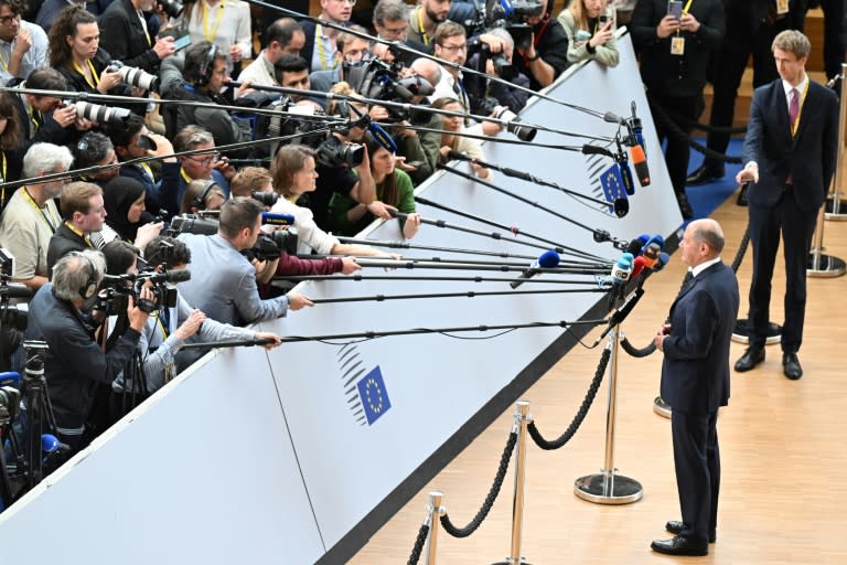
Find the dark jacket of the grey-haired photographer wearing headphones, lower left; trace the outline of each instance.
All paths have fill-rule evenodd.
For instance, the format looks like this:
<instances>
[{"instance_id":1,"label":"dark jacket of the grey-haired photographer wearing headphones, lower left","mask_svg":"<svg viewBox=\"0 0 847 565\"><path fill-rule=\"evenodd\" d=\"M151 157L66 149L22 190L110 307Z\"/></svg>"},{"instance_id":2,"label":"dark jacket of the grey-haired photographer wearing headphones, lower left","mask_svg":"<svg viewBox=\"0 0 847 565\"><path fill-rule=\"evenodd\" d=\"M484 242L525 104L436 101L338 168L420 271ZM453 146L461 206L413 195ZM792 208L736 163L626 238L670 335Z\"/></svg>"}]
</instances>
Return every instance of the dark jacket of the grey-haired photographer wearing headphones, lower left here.
<instances>
[{"instance_id":1,"label":"dark jacket of the grey-haired photographer wearing headphones, lower left","mask_svg":"<svg viewBox=\"0 0 847 565\"><path fill-rule=\"evenodd\" d=\"M104 353L79 311L67 300L56 298L52 284L41 287L30 302L25 335L28 340L46 341L50 347L44 375L56 424L62 428L85 425L97 383L111 385L141 337L127 328Z\"/></svg>"}]
</instances>

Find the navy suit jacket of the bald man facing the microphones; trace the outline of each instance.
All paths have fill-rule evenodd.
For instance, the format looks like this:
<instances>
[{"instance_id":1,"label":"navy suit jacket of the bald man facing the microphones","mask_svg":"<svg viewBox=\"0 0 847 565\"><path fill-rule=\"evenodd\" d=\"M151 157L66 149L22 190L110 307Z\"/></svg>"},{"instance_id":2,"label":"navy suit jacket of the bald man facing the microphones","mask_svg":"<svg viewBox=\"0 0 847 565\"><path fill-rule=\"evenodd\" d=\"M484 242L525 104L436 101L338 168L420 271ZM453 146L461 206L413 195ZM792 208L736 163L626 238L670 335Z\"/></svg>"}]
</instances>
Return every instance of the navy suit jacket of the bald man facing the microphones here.
<instances>
[{"instance_id":1,"label":"navy suit jacket of the bald man facing the microphones","mask_svg":"<svg viewBox=\"0 0 847 565\"><path fill-rule=\"evenodd\" d=\"M738 303L736 274L717 263L691 279L671 307L662 397L674 412L711 414L729 402L729 342Z\"/></svg>"}]
</instances>

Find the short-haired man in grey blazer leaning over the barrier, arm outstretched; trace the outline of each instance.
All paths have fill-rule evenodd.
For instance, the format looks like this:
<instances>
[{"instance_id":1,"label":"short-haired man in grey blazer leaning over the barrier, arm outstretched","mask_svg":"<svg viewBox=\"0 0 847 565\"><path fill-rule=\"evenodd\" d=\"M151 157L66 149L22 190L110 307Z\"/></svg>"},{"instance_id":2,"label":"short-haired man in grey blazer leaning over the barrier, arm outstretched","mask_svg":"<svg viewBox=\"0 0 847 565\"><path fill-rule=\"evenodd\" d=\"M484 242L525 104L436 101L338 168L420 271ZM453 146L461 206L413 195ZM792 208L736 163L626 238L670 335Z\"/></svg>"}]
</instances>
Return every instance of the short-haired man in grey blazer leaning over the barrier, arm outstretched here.
<instances>
[{"instance_id":1,"label":"short-haired man in grey blazer leaning over the barrier, arm outstretched","mask_svg":"<svg viewBox=\"0 0 847 565\"><path fill-rule=\"evenodd\" d=\"M256 287L256 269L242 252L251 249L261 234L261 204L236 198L221 209L216 235L181 234L191 249L195 274L180 282L185 299L213 320L245 326L286 316L289 309L312 306L309 298L288 296L261 300Z\"/></svg>"}]
</instances>

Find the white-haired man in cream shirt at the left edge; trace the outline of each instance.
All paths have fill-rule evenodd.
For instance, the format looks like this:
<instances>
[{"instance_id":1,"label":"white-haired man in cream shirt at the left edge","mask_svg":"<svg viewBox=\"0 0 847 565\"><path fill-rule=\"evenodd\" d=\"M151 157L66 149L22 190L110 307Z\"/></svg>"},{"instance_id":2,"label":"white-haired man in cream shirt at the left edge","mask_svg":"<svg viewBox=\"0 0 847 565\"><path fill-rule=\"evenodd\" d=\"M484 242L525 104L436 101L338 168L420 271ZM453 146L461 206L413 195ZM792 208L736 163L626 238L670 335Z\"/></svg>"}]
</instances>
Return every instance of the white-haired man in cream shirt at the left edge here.
<instances>
[{"instance_id":1,"label":"white-haired man in cream shirt at the left edge","mask_svg":"<svg viewBox=\"0 0 847 565\"><path fill-rule=\"evenodd\" d=\"M74 158L64 146L35 143L23 157L23 175L28 179L67 172ZM15 258L13 280L33 291L47 281L47 248L62 223L54 199L65 180L33 182L18 189L0 218L0 244Z\"/></svg>"}]
</instances>

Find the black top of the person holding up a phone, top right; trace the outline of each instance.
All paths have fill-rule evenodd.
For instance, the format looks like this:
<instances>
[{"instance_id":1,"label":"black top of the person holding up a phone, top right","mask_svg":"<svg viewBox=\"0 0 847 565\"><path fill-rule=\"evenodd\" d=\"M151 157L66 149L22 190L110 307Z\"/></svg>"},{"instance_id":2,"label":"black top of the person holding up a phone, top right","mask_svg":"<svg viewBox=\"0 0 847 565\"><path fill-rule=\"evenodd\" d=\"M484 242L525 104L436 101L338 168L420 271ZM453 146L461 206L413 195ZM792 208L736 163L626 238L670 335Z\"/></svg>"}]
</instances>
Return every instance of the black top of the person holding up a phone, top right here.
<instances>
[{"instance_id":1,"label":"black top of the person holding up a phone, top right","mask_svg":"<svg viewBox=\"0 0 847 565\"><path fill-rule=\"evenodd\" d=\"M630 30L641 54L641 78L647 89L665 96L696 96L703 93L708 76L709 57L720 45L725 32L722 0L696 0L690 14L700 28L696 33L683 32L685 53L671 53L669 38L656 35L656 28L667 14L667 0L640 0L632 14Z\"/></svg>"}]
</instances>

